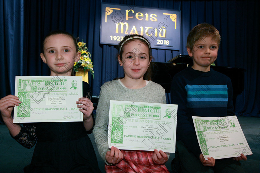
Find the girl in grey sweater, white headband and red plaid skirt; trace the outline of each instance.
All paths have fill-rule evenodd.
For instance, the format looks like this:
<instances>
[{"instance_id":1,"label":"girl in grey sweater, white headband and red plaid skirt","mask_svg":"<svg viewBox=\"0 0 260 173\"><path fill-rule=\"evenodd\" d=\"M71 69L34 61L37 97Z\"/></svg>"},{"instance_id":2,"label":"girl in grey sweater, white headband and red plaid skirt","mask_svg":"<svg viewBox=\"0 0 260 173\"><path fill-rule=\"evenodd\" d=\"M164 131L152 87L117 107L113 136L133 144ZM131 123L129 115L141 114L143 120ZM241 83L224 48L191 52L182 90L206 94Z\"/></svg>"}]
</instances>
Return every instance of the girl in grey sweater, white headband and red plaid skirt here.
<instances>
[{"instance_id":1,"label":"girl in grey sweater, white headband and red plaid skirt","mask_svg":"<svg viewBox=\"0 0 260 173\"><path fill-rule=\"evenodd\" d=\"M151 48L140 35L125 36L119 43L118 61L124 68L124 78L101 86L96 125L93 129L98 152L104 159L106 172L169 172L163 151L119 150L108 148L108 117L110 100L166 103L165 90L150 81Z\"/></svg>"}]
</instances>

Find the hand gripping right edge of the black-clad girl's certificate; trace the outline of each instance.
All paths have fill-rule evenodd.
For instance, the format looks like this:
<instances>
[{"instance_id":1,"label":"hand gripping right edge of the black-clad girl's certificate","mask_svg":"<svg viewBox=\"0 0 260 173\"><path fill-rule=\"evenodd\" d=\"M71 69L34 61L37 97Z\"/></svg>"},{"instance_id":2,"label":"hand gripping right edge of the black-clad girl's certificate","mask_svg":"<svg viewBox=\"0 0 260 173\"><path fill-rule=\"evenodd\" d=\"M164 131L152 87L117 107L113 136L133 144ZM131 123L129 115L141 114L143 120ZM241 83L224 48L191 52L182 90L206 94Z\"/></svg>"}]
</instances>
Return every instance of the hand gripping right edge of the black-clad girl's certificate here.
<instances>
[{"instance_id":1,"label":"hand gripping right edge of the black-clad girl's certificate","mask_svg":"<svg viewBox=\"0 0 260 173\"><path fill-rule=\"evenodd\" d=\"M83 120L88 120L94 110L93 103L85 97L79 98L76 103L78 104L77 107L80 108L80 112L83 113Z\"/></svg>"}]
</instances>

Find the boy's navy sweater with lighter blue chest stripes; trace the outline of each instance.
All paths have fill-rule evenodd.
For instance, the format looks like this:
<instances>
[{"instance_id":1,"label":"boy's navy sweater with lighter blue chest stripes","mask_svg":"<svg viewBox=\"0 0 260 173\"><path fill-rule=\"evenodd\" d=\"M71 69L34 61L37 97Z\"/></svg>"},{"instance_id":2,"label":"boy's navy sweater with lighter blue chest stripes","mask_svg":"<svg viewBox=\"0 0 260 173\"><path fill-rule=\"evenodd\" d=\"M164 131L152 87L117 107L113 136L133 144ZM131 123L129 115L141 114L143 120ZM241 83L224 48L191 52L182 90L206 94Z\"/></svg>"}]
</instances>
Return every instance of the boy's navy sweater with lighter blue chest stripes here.
<instances>
[{"instance_id":1,"label":"boy's navy sweater with lighter blue chest stripes","mask_svg":"<svg viewBox=\"0 0 260 173\"><path fill-rule=\"evenodd\" d=\"M197 158L201 154L192 116L219 117L233 112L232 83L226 75L191 67L177 73L171 84L171 104L178 104L177 141Z\"/></svg>"}]
</instances>

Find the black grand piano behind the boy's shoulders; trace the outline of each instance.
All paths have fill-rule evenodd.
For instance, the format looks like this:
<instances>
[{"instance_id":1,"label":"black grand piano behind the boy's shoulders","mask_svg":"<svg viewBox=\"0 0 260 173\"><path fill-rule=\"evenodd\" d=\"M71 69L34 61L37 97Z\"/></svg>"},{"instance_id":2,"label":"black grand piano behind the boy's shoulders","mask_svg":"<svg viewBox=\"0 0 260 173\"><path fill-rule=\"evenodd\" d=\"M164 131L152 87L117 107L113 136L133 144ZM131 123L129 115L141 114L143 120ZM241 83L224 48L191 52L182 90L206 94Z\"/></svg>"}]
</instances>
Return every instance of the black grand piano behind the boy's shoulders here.
<instances>
[{"instance_id":1,"label":"black grand piano behind the boy's shoulders","mask_svg":"<svg viewBox=\"0 0 260 173\"><path fill-rule=\"evenodd\" d=\"M165 92L169 93L173 76L192 65L192 57L188 55L178 55L168 62L151 62L152 81L163 86ZM233 86L233 104L235 106L237 95L240 95L244 90L245 69L213 65L211 68L225 74L231 79Z\"/></svg>"}]
</instances>

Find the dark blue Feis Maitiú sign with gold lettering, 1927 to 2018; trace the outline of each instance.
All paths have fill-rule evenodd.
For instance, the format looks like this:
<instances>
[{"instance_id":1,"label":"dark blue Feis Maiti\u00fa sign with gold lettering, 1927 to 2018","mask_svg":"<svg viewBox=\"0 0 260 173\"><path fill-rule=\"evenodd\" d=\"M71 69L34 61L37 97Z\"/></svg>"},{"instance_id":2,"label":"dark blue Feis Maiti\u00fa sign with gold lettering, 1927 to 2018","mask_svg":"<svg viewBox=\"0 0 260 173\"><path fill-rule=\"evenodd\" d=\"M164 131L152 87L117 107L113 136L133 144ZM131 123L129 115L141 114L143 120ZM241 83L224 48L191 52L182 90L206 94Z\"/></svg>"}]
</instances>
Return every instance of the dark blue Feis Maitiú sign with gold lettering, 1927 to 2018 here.
<instances>
[{"instance_id":1,"label":"dark blue Feis Maiti\u00fa sign with gold lettering, 1927 to 2018","mask_svg":"<svg viewBox=\"0 0 260 173\"><path fill-rule=\"evenodd\" d=\"M102 3L101 44L118 44L126 35L145 36L155 49L180 49L180 11Z\"/></svg>"}]
</instances>

